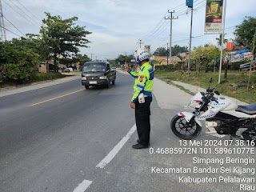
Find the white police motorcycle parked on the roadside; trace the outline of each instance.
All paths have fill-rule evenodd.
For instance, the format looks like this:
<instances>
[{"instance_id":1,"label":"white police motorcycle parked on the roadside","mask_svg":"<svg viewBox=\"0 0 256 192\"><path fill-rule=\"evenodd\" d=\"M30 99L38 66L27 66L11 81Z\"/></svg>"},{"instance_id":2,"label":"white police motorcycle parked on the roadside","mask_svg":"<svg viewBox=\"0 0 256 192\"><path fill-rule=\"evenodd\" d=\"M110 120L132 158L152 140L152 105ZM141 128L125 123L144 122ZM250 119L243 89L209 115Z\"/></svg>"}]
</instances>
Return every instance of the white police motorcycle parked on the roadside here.
<instances>
[{"instance_id":1,"label":"white police motorcycle parked on the roadside","mask_svg":"<svg viewBox=\"0 0 256 192\"><path fill-rule=\"evenodd\" d=\"M194 112L181 112L172 118L170 128L174 134L182 139L195 138L202 130L202 120L206 120L206 134L255 141L256 103L238 106L229 98L214 98L214 94L219 92L210 89L210 83L206 93L195 94L188 105Z\"/></svg>"}]
</instances>

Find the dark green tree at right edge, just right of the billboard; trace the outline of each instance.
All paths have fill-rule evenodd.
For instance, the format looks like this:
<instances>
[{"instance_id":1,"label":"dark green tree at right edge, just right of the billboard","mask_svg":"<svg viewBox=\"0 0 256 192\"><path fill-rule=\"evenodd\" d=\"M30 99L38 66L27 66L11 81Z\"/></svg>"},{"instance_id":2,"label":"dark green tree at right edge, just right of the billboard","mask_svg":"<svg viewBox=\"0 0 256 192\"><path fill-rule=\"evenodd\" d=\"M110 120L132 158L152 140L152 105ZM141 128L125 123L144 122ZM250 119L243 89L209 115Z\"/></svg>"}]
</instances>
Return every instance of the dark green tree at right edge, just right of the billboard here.
<instances>
[{"instance_id":1,"label":"dark green tree at right edge, just right of the billboard","mask_svg":"<svg viewBox=\"0 0 256 192\"><path fill-rule=\"evenodd\" d=\"M247 49L252 50L255 30L256 18L252 17L246 17L241 25L236 26L234 40L238 43L238 46L245 46Z\"/></svg>"}]
</instances>

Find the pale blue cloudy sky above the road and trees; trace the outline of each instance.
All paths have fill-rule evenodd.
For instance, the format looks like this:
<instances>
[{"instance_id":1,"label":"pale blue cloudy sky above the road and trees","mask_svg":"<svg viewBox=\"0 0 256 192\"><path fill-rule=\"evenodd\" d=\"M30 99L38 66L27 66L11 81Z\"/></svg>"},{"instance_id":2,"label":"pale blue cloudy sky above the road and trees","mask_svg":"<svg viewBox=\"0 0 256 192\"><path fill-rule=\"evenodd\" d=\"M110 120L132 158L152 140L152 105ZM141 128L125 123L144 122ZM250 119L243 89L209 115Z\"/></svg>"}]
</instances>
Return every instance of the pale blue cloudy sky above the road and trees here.
<instances>
[{"instance_id":1,"label":"pale blue cloudy sky above the road and trees","mask_svg":"<svg viewBox=\"0 0 256 192\"><path fill-rule=\"evenodd\" d=\"M172 46L189 46L191 12L186 0L0 0L7 40L24 34L39 34L44 12L62 18L78 17L79 26L92 32L86 36L89 48L80 48L93 60L114 59L133 54L150 45L154 53L170 42L170 16L174 11ZM225 38L234 38L235 26L246 16L256 17L256 0L226 0ZM194 0L192 48L211 43L217 46L219 34L205 34L206 0ZM13 34L14 33L14 34Z\"/></svg>"}]
</instances>

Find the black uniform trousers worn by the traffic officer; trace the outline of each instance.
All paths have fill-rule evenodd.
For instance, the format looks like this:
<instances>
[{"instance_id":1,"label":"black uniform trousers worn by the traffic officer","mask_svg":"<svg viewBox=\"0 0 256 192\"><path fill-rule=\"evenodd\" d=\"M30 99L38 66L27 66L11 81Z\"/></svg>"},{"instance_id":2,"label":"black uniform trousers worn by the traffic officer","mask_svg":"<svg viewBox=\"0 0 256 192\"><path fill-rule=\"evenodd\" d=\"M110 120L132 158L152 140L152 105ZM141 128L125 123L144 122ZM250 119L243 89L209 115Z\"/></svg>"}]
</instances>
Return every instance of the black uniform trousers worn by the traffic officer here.
<instances>
[{"instance_id":1,"label":"black uniform trousers worn by the traffic officer","mask_svg":"<svg viewBox=\"0 0 256 192\"><path fill-rule=\"evenodd\" d=\"M143 146L150 143L150 103L152 97L146 97L144 103L135 102L135 120L138 138Z\"/></svg>"}]
</instances>

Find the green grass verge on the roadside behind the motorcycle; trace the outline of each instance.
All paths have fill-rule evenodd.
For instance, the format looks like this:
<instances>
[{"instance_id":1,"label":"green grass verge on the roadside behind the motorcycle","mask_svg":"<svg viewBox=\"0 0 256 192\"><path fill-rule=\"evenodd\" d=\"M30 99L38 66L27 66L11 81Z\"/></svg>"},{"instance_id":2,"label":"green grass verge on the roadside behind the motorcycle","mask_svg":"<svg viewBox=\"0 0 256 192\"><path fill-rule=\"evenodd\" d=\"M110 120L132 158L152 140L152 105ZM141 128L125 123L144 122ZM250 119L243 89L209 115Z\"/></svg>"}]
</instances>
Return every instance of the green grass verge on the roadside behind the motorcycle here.
<instances>
[{"instance_id":1,"label":"green grass verge on the roadside behind the motorcycle","mask_svg":"<svg viewBox=\"0 0 256 192\"><path fill-rule=\"evenodd\" d=\"M195 72L192 72L190 77L182 76L180 72L166 72L155 71L156 77L162 80L174 80L179 82L186 82L194 86L208 88L209 79L213 78L210 87L215 87L221 94L231 98L237 98L242 102L254 103L256 102L256 73L253 72L251 76L250 89L247 90L248 72L233 72L229 71L227 80L224 81L224 74L221 76L221 84L218 84L218 72L200 72L199 77Z\"/></svg>"}]
</instances>

